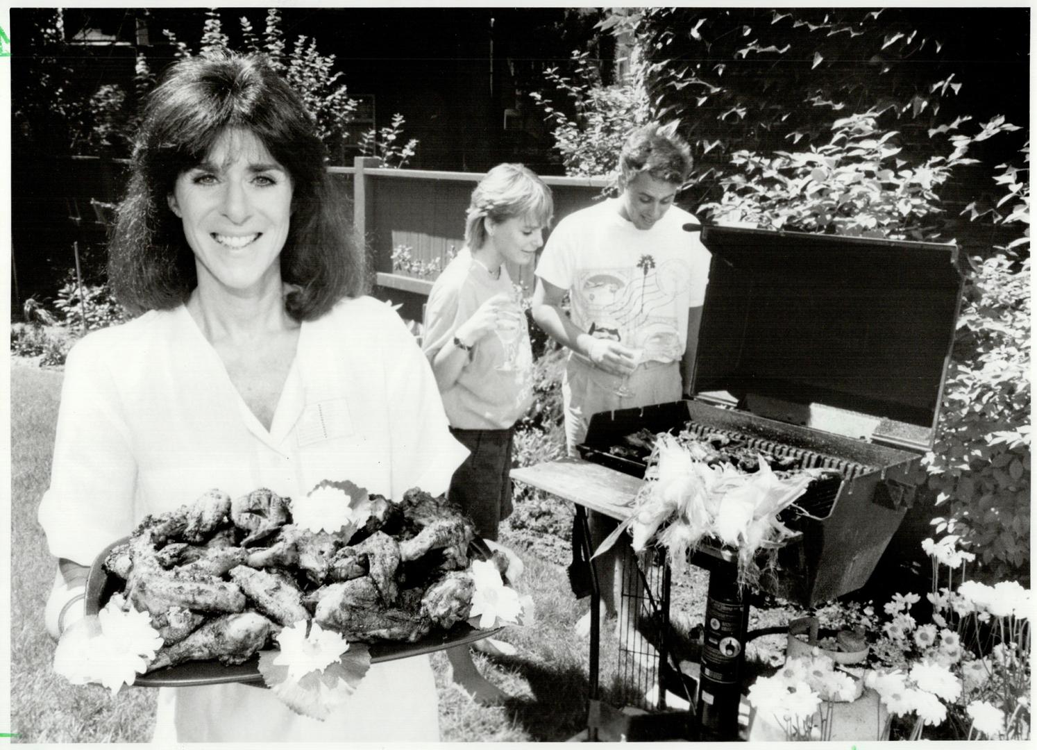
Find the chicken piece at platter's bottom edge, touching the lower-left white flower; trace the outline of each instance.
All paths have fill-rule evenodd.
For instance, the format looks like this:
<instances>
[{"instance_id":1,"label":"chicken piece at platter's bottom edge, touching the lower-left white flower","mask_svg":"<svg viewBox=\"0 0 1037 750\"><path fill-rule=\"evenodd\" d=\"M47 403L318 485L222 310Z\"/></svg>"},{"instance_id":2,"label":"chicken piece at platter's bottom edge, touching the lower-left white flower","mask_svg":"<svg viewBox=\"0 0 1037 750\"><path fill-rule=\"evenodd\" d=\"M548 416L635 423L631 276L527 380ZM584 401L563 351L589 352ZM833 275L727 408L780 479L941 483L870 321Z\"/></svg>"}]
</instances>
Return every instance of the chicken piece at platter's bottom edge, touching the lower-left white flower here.
<instances>
[{"instance_id":1,"label":"chicken piece at platter's bottom edge, touching the lower-left white flower","mask_svg":"<svg viewBox=\"0 0 1037 750\"><path fill-rule=\"evenodd\" d=\"M273 623L256 612L222 615L179 643L160 648L150 668L212 659L219 659L223 664L241 664L262 648L272 630Z\"/></svg>"}]
</instances>

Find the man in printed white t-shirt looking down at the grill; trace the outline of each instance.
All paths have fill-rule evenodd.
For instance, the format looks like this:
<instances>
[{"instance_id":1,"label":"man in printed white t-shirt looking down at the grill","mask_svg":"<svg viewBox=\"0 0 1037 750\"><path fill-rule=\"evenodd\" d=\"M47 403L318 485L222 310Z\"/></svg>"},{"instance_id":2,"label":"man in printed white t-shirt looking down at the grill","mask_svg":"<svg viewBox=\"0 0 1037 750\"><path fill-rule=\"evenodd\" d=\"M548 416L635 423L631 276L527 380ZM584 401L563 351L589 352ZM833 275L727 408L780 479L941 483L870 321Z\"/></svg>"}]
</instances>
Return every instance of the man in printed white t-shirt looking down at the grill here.
<instances>
[{"instance_id":1,"label":"man in printed white t-shirt looking down at the grill","mask_svg":"<svg viewBox=\"0 0 1037 750\"><path fill-rule=\"evenodd\" d=\"M694 371L710 255L685 229L698 226L695 216L673 204L691 149L675 123L652 122L627 137L619 168L620 195L559 221L536 269L533 317L569 350L562 395L570 455L591 415L678 400ZM590 527L596 548L615 522L591 512ZM632 554L619 547L597 566L610 616ZM588 613L578 630L589 627Z\"/></svg>"}]
</instances>

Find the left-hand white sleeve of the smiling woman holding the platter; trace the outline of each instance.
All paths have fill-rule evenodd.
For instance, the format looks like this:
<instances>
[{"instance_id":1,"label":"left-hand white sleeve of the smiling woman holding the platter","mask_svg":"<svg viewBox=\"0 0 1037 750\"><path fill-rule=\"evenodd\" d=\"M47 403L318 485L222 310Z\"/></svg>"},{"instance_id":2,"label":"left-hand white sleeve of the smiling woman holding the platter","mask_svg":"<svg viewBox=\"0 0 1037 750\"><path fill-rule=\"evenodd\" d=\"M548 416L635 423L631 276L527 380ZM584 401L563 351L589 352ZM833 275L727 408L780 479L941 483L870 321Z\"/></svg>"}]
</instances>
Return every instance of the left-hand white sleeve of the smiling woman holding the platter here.
<instances>
[{"instance_id":1,"label":"left-hand white sleeve of the smiling woman holding the platter","mask_svg":"<svg viewBox=\"0 0 1037 750\"><path fill-rule=\"evenodd\" d=\"M83 339L65 362L51 483L37 515L51 554L81 565L133 530L136 462L101 340Z\"/></svg>"}]
</instances>

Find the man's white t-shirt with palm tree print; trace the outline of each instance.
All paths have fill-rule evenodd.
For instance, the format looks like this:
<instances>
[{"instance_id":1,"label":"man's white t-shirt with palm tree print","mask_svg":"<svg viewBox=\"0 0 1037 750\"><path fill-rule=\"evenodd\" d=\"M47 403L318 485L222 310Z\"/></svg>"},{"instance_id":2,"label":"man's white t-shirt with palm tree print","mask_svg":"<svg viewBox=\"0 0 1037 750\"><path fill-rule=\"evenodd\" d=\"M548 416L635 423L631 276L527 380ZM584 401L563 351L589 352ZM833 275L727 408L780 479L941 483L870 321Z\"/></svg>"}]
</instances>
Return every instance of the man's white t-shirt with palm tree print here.
<instances>
[{"instance_id":1,"label":"man's white t-shirt with palm tree print","mask_svg":"<svg viewBox=\"0 0 1037 750\"><path fill-rule=\"evenodd\" d=\"M638 229L612 198L562 219L536 268L567 289L583 331L644 350L645 360L675 362L688 344L688 309L705 299L710 254L683 224L697 219L674 205L650 229Z\"/></svg>"}]
</instances>

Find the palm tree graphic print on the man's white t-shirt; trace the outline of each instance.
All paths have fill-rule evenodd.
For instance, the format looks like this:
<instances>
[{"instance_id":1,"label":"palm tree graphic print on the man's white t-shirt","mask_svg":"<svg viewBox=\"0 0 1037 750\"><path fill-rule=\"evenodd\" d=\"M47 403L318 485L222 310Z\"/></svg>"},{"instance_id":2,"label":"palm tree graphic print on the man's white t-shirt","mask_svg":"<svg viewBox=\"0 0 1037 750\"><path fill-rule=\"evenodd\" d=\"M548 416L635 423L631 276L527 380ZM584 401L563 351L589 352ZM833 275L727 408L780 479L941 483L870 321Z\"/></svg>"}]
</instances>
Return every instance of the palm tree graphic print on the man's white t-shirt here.
<instances>
[{"instance_id":1,"label":"palm tree graphic print on the man's white t-shirt","mask_svg":"<svg viewBox=\"0 0 1037 750\"><path fill-rule=\"evenodd\" d=\"M685 260L656 263L650 254L630 267L583 269L571 289L573 318L595 338L643 349L646 360L678 360L675 304L690 276Z\"/></svg>"}]
</instances>

